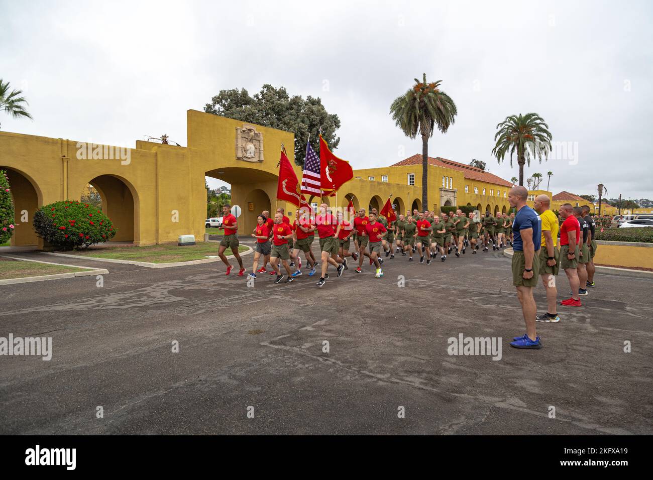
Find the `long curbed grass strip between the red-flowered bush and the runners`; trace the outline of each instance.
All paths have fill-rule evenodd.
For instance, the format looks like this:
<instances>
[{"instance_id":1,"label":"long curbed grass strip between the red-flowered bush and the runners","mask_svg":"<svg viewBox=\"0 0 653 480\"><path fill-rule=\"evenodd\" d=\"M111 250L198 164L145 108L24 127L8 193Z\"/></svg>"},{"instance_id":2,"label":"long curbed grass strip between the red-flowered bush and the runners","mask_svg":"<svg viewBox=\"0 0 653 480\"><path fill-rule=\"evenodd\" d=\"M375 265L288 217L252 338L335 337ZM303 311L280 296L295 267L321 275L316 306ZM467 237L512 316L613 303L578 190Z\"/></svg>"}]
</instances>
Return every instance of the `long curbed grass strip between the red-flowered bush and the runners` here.
<instances>
[{"instance_id":1,"label":"long curbed grass strip between the red-flowered bush and the runners","mask_svg":"<svg viewBox=\"0 0 653 480\"><path fill-rule=\"evenodd\" d=\"M201 260L211 255L217 255L219 244L215 242L200 242L197 245L180 247L176 243L153 245L149 247L107 247L88 250L71 251L73 255L95 257L101 259L133 260L137 262L171 263L189 260ZM241 245L238 251L246 251ZM231 249L225 252L231 255Z\"/></svg>"}]
</instances>

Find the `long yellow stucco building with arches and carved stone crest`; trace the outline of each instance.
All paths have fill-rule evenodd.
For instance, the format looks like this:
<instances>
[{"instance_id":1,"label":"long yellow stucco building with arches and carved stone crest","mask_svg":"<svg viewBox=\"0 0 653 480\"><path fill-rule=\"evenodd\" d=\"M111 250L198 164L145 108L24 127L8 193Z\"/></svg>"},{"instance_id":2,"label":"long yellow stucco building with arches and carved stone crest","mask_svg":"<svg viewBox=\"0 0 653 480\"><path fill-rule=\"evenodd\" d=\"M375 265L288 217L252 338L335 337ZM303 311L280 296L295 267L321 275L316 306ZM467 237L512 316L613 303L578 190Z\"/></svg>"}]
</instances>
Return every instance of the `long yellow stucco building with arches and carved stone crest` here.
<instances>
[{"instance_id":1,"label":"long yellow stucco building with arches and carved stone crest","mask_svg":"<svg viewBox=\"0 0 653 480\"><path fill-rule=\"evenodd\" d=\"M13 246L39 246L32 228L35 210L59 200L80 200L87 185L101 195L103 211L118 229L114 241L137 246L174 242L182 234L204 238L205 176L231 184L232 204L242 208L239 233L249 234L256 216L295 206L276 200L278 161L285 145L294 165L292 133L197 110L187 112L187 146L137 140L135 148L87 144L0 131L0 170L12 187L16 230ZM511 184L477 168L429 159L428 209L471 205L485 212L509 208ZM295 166L297 177L302 170ZM354 170L336 197L323 199L345 208L381 210L392 195L398 212L422 206L421 155L384 168ZM374 177L374 180L369 180ZM319 199L310 200L311 204Z\"/></svg>"}]
</instances>

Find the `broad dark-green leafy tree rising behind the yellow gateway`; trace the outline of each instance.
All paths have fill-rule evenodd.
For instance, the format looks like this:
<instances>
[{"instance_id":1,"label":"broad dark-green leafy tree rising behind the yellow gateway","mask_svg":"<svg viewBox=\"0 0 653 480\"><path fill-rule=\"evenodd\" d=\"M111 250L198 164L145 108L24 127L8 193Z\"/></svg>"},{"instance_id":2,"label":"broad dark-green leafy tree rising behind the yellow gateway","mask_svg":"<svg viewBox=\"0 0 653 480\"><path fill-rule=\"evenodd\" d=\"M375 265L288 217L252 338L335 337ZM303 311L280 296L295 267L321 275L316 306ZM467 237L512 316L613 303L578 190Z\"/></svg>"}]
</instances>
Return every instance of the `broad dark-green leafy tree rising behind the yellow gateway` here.
<instances>
[{"instance_id":1,"label":"broad dark-green leafy tree rising behind the yellow gateway","mask_svg":"<svg viewBox=\"0 0 653 480\"><path fill-rule=\"evenodd\" d=\"M291 97L283 87L265 84L253 96L244 88L220 90L211 103L204 106L204 112L294 133L297 165L304 165L309 136L311 147L318 151L320 129L331 150L338 148L340 143L340 137L336 136L340 119L327 112L319 97ZM286 145L286 148L292 146Z\"/></svg>"}]
</instances>

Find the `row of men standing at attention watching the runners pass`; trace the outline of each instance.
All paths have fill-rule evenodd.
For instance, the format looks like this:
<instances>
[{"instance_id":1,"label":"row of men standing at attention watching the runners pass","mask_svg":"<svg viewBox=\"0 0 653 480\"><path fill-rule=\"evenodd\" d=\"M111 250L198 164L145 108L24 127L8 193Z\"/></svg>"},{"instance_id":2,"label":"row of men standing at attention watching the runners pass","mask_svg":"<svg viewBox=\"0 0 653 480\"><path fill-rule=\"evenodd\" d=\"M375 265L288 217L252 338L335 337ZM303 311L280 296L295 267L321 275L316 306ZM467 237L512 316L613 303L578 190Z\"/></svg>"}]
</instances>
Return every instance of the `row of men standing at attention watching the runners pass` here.
<instances>
[{"instance_id":1,"label":"row of men standing at attention watching the runners pass","mask_svg":"<svg viewBox=\"0 0 653 480\"><path fill-rule=\"evenodd\" d=\"M548 195L535 197L534 208L526 204L525 187L513 187L508 199L517 209L513 220L513 284L522 305L526 333L515 337L511 345L517 348L540 349L536 322L558 323L558 289L556 276L564 270L571 296L560 301L563 306L580 307L581 296L588 295L594 283L594 239L596 223L590 216L590 207L563 204L558 209L560 220L550 210ZM558 235L559 233L559 235ZM558 236L560 238L558 238ZM537 315L533 289L541 283L547 295L547 312Z\"/></svg>"}]
</instances>

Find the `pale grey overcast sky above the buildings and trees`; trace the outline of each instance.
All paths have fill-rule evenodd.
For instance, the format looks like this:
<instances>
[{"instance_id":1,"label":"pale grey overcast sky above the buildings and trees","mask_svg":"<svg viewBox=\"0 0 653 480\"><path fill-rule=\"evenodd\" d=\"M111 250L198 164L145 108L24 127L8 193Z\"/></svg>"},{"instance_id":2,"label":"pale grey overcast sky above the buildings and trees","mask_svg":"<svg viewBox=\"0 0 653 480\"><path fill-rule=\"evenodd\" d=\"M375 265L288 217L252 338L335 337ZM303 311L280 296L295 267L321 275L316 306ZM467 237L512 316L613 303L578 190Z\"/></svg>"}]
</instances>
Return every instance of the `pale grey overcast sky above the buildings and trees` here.
<instances>
[{"instance_id":1,"label":"pale grey overcast sky above the buildings and trees","mask_svg":"<svg viewBox=\"0 0 653 480\"><path fill-rule=\"evenodd\" d=\"M186 110L268 83L321 97L340 117L336 154L380 167L421 153L389 106L426 72L458 106L430 156L483 160L509 180L517 163L491 154L496 124L537 112L567 158L525 177L540 172L546 187L551 170L553 193L603 183L608 197L653 199L652 5L0 0L0 78L34 116L0 112L1 128L121 146L167 133L185 146Z\"/></svg>"}]
</instances>

